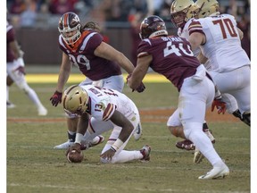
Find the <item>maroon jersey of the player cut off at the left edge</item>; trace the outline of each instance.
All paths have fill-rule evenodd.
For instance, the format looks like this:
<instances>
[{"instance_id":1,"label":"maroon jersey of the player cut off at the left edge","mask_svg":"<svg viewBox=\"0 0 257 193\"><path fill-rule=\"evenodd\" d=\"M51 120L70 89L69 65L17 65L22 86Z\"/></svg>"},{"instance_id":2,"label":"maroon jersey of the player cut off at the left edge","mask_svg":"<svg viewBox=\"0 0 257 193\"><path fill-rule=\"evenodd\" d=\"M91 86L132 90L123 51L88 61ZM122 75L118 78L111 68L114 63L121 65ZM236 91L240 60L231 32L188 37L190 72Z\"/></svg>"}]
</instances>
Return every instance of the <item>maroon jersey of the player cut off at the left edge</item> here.
<instances>
[{"instance_id":1,"label":"maroon jersey of the player cut off at the left edge","mask_svg":"<svg viewBox=\"0 0 257 193\"><path fill-rule=\"evenodd\" d=\"M11 50L9 43L12 41L15 41L15 36L14 36L14 29L12 28L12 25L6 24L6 59L7 63L12 63L15 60L15 55L13 51Z\"/></svg>"}]
</instances>

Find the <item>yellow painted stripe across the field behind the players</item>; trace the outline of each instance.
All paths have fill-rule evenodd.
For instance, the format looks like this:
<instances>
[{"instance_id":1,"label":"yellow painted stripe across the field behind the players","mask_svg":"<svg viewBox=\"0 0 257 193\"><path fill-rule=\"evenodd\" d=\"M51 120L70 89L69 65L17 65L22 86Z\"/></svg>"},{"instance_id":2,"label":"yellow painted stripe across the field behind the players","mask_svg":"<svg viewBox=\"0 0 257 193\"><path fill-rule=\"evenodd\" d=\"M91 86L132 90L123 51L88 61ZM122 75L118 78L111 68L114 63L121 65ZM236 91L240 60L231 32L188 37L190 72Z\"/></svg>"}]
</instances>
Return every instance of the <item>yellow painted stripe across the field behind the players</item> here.
<instances>
[{"instance_id":1,"label":"yellow painted stripe across the field behind the players","mask_svg":"<svg viewBox=\"0 0 257 193\"><path fill-rule=\"evenodd\" d=\"M126 81L128 74L124 73L123 79ZM27 74L26 80L29 83L57 83L58 74ZM79 83L85 80L85 76L82 74L70 74L68 83ZM149 73L145 75L144 82L170 82L162 75Z\"/></svg>"}]
</instances>

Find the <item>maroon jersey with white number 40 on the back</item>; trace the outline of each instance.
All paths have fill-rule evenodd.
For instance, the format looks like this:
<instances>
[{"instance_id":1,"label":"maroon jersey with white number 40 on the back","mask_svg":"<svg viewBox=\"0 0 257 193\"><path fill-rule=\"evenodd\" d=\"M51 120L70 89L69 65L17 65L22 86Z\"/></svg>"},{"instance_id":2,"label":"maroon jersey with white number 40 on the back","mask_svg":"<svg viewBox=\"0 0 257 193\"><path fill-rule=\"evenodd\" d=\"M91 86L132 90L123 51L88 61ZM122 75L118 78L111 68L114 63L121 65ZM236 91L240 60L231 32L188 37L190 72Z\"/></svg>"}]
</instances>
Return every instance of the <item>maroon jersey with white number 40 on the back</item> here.
<instances>
[{"instance_id":1,"label":"maroon jersey with white number 40 on the back","mask_svg":"<svg viewBox=\"0 0 257 193\"><path fill-rule=\"evenodd\" d=\"M144 39L138 46L137 57L144 55L153 56L150 67L170 80L178 91L200 65L189 42L176 36Z\"/></svg>"}]
</instances>

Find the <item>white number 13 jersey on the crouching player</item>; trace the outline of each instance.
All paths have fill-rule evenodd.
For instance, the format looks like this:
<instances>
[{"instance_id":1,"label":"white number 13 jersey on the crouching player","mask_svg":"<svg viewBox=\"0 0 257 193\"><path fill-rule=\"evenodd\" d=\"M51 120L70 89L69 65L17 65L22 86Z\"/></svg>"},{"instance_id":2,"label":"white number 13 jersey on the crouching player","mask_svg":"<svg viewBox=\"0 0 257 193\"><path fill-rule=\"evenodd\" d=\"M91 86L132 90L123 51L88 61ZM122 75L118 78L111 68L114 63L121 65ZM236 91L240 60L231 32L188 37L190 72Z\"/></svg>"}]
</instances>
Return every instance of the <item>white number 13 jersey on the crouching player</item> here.
<instances>
[{"instance_id":1,"label":"white number 13 jersey on the crouching player","mask_svg":"<svg viewBox=\"0 0 257 193\"><path fill-rule=\"evenodd\" d=\"M87 113L98 121L108 121L115 110L130 117L138 113L136 105L128 96L108 88L97 88L92 85L80 86L87 91L89 106Z\"/></svg>"}]
</instances>

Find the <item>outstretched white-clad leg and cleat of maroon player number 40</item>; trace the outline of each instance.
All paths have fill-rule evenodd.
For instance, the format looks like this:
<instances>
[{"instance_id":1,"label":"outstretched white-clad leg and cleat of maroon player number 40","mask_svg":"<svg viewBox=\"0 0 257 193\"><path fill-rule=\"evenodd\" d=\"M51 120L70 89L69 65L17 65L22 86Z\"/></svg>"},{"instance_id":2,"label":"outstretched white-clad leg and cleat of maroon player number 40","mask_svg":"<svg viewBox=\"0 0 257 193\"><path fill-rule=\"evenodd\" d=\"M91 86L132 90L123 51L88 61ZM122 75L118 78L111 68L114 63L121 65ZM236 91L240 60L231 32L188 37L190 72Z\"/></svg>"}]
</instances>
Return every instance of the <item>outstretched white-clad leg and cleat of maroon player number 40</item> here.
<instances>
[{"instance_id":1,"label":"outstretched white-clad leg and cleat of maroon player number 40","mask_svg":"<svg viewBox=\"0 0 257 193\"><path fill-rule=\"evenodd\" d=\"M199 179L224 177L229 173L228 166L217 154L210 138L203 133L205 111L212 103L214 86L211 80L206 78L196 82L192 79L184 80L179 93L178 110L181 114L184 133L213 166L211 172L200 176Z\"/></svg>"}]
</instances>

